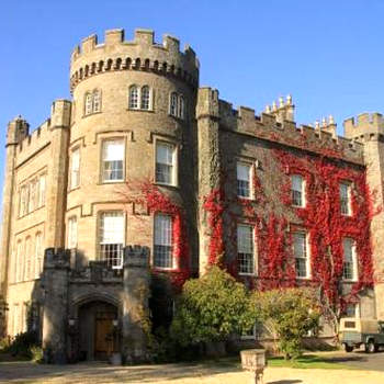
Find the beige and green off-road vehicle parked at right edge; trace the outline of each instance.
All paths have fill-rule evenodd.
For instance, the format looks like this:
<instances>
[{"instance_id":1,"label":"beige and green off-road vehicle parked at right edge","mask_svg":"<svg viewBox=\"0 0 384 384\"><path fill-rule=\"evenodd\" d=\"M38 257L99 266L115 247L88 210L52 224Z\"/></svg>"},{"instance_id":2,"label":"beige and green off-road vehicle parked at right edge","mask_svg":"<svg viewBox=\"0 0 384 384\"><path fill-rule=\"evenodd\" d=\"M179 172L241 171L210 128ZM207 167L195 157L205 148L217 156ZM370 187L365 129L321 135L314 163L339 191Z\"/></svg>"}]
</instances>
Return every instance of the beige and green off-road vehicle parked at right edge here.
<instances>
[{"instance_id":1,"label":"beige and green off-road vehicle parked at right edge","mask_svg":"<svg viewBox=\"0 0 384 384\"><path fill-rule=\"evenodd\" d=\"M346 352L352 352L362 345L365 347L365 352L376 352L384 346L384 321L370 318L341 318L340 341Z\"/></svg>"}]
</instances>

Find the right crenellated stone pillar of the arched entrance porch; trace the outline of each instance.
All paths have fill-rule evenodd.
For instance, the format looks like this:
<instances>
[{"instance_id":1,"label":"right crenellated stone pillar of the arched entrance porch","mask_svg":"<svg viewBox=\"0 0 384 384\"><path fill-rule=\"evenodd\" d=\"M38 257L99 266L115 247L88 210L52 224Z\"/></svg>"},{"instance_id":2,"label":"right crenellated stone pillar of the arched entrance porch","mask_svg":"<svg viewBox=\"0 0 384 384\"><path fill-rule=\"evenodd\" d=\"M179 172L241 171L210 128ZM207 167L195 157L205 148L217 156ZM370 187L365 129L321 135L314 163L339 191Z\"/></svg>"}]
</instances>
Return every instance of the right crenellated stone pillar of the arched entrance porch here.
<instances>
[{"instance_id":1,"label":"right crenellated stone pillar of the arched entrance porch","mask_svg":"<svg viewBox=\"0 0 384 384\"><path fill-rule=\"evenodd\" d=\"M122 293L122 355L127 363L148 359L149 279L149 248L125 247Z\"/></svg>"}]
</instances>

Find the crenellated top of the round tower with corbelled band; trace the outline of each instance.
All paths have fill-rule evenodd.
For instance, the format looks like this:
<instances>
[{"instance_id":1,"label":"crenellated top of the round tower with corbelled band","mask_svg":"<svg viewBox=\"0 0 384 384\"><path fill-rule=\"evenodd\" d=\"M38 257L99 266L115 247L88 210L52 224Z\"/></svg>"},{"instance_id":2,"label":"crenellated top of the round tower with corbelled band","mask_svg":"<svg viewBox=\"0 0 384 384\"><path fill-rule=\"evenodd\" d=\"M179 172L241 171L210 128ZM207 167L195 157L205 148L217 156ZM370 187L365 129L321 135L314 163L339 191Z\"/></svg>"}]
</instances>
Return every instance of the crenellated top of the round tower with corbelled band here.
<instances>
[{"instance_id":1,"label":"crenellated top of the round tower with corbelled band","mask_svg":"<svg viewBox=\"0 0 384 384\"><path fill-rule=\"evenodd\" d=\"M105 31L104 43L95 34L86 37L71 55L70 89L81 80L105 71L146 70L174 76L196 87L199 60L194 50L171 35L163 35L162 44L155 42L151 30L135 30L132 42L124 39L124 30Z\"/></svg>"}]
</instances>

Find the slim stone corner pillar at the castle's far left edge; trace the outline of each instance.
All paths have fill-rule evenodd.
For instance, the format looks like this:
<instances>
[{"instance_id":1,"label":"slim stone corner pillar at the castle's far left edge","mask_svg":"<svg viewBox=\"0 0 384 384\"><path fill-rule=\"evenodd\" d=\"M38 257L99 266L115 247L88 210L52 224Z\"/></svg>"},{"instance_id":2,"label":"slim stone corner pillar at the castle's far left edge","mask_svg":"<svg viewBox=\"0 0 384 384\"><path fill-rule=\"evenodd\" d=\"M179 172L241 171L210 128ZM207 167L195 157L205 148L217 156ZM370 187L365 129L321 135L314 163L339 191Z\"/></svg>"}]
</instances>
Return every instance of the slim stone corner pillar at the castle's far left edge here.
<instances>
[{"instance_id":1,"label":"slim stone corner pillar at the castle's far left edge","mask_svg":"<svg viewBox=\"0 0 384 384\"><path fill-rule=\"evenodd\" d=\"M11 218L13 202L16 196L14 188L15 158L18 145L29 135L29 124L21 116L13 118L8 125L7 132L7 155L4 168L4 184L2 195L2 238L0 253L0 294L5 296L8 281L8 269L10 266L10 238L11 238Z\"/></svg>"}]
</instances>

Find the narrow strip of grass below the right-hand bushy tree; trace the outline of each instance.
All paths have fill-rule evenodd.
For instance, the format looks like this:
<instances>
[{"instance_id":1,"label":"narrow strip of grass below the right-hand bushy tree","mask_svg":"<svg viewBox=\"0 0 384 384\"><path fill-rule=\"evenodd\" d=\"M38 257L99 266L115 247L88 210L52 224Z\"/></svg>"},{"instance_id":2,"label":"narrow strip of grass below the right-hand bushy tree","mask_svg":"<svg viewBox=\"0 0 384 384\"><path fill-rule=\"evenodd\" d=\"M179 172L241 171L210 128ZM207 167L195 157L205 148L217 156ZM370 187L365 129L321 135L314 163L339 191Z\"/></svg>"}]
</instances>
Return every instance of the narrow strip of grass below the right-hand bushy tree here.
<instances>
[{"instance_id":1,"label":"narrow strip of grass below the right-hand bushy tree","mask_svg":"<svg viewBox=\"0 0 384 384\"><path fill-rule=\"evenodd\" d=\"M268 358L269 366L278 368L300 368L320 370L355 370L357 368L332 361L331 357L318 354L303 354L296 360L284 360L282 357Z\"/></svg>"}]
</instances>

